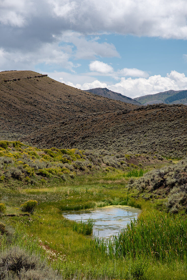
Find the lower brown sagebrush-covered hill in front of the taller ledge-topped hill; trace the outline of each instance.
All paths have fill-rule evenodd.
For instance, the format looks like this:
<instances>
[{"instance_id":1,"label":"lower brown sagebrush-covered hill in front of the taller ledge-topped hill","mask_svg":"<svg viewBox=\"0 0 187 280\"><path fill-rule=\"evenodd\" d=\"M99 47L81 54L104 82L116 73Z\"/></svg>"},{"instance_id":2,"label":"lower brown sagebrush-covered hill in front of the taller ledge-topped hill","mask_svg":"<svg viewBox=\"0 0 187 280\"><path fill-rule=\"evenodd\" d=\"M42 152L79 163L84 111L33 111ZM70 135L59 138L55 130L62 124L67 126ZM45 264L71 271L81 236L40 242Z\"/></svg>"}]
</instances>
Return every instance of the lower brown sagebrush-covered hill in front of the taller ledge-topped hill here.
<instances>
[{"instance_id":1,"label":"lower brown sagebrush-covered hill in front of the taller ledge-topped hill","mask_svg":"<svg viewBox=\"0 0 187 280\"><path fill-rule=\"evenodd\" d=\"M187 154L186 119L185 105L140 106L69 118L24 140L42 148L108 149L181 158Z\"/></svg>"}]
</instances>

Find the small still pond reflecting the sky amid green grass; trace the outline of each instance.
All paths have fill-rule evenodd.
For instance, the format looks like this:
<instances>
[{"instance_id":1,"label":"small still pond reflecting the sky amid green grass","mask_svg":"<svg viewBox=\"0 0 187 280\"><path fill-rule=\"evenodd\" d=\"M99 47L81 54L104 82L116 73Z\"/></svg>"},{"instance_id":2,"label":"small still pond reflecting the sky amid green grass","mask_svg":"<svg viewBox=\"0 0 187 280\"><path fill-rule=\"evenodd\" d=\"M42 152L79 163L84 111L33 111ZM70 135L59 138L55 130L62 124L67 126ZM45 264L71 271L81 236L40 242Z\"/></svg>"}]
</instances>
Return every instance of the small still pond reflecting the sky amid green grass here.
<instances>
[{"instance_id":1,"label":"small still pond reflecting the sky amid green grass","mask_svg":"<svg viewBox=\"0 0 187 280\"><path fill-rule=\"evenodd\" d=\"M91 218L95 221L93 236L108 238L118 235L130 220L137 219L141 210L130 206L107 206L89 210L65 211L64 218L74 221L86 221Z\"/></svg>"}]
</instances>

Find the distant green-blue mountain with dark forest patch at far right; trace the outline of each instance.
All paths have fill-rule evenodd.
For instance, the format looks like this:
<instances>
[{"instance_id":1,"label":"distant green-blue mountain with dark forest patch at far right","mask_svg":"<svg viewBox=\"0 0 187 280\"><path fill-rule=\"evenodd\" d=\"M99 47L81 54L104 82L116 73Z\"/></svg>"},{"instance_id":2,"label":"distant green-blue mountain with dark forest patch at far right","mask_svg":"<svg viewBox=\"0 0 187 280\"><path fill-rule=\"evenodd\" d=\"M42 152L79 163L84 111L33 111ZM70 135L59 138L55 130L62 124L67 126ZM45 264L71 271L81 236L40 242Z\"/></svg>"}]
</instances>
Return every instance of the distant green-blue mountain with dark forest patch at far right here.
<instances>
[{"instance_id":1,"label":"distant green-blue mountain with dark forest patch at far right","mask_svg":"<svg viewBox=\"0 0 187 280\"><path fill-rule=\"evenodd\" d=\"M167 90L156 94L148 94L134 98L144 105L153 103L185 104L187 103L187 90Z\"/></svg>"}]
</instances>

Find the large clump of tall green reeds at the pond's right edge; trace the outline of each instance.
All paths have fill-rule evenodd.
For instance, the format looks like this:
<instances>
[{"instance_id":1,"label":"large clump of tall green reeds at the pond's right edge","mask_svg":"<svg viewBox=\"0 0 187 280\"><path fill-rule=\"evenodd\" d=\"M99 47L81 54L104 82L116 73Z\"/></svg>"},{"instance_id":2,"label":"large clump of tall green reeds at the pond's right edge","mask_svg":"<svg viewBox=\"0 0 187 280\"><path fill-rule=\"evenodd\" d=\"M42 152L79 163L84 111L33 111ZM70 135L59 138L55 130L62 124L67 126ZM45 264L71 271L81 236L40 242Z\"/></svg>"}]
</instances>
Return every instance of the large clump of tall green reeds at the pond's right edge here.
<instances>
[{"instance_id":1,"label":"large clump of tall green reeds at the pond's right edge","mask_svg":"<svg viewBox=\"0 0 187 280\"><path fill-rule=\"evenodd\" d=\"M187 219L153 211L131 221L118 236L106 241L106 245L103 242L98 246L107 247L112 258L142 255L161 261L184 260L187 259Z\"/></svg>"}]
</instances>

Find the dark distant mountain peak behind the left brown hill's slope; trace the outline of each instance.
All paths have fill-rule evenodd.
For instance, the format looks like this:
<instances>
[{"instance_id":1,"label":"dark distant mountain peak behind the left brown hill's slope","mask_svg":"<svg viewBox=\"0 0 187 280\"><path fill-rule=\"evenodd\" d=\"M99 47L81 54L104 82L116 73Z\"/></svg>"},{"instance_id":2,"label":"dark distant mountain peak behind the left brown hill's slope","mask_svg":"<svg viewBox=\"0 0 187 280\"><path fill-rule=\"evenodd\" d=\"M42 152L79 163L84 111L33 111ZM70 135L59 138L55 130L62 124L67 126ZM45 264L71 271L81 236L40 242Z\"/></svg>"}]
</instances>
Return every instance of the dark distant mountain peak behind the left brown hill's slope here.
<instances>
[{"instance_id":1,"label":"dark distant mountain peak behind the left brown hill's slope","mask_svg":"<svg viewBox=\"0 0 187 280\"><path fill-rule=\"evenodd\" d=\"M109 90L108 88L92 88L92 89L89 89L86 91L103 96L103 97L107 97L107 98L110 98L113 100L120 100L125 103L130 103L130 104L140 106L140 102L137 102L137 101L133 100L132 98L127 97L125 95L122 95L121 93Z\"/></svg>"}]
</instances>

